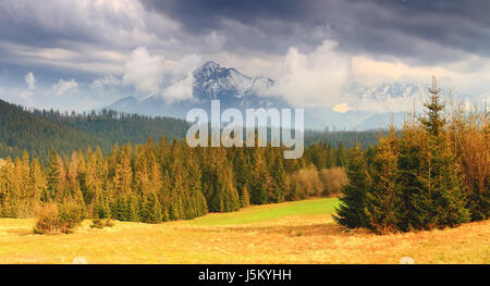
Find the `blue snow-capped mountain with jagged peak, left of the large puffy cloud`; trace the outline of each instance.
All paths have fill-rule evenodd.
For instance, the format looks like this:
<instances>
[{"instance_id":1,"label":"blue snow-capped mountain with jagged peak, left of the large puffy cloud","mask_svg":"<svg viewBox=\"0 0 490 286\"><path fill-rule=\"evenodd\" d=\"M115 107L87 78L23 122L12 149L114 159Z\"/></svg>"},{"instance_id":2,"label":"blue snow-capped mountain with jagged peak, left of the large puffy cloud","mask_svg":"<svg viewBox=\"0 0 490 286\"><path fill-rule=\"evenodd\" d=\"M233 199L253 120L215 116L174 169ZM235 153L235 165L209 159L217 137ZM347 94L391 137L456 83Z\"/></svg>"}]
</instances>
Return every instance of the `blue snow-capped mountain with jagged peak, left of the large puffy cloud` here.
<instances>
[{"instance_id":1,"label":"blue snow-capped mountain with jagged peak, left of the large puffy cloud","mask_svg":"<svg viewBox=\"0 0 490 286\"><path fill-rule=\"evenodd\" d=\"M130 113L185 117L192 108L210 109L210 101L219 99L221 109L287 108L281 97L264 97L260 92L270 88L274 82L264 76L252 77L233 67L223 67L209 61L193 73L193 99L169 102L159 95L136 99L123 98L107 107Z\"/></svg>"}]
</instances>

